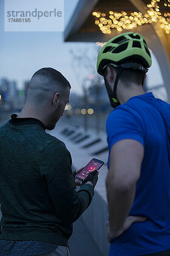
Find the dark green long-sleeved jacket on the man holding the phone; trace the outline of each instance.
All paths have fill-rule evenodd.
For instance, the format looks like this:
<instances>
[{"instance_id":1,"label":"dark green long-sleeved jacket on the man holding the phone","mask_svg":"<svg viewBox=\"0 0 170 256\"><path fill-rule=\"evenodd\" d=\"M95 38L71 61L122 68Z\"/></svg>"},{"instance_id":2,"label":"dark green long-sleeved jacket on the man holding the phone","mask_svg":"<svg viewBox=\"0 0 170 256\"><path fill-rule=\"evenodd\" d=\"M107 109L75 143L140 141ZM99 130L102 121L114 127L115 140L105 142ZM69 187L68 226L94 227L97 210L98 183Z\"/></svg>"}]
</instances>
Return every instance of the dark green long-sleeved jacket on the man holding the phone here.
<instances>
[{"instance_id":1,"label":"dark green long-sleeved jacket on the man holding the phone","mask_svg":"<svg viewBox=\"0 0 170 256\"><path fill-rule=\"evenodd\" d=\"M76 192L65 144L40 120L16 116L0 127L0 239L66 246L94 189L85 184Z\"/></svg>"}]
</instances>

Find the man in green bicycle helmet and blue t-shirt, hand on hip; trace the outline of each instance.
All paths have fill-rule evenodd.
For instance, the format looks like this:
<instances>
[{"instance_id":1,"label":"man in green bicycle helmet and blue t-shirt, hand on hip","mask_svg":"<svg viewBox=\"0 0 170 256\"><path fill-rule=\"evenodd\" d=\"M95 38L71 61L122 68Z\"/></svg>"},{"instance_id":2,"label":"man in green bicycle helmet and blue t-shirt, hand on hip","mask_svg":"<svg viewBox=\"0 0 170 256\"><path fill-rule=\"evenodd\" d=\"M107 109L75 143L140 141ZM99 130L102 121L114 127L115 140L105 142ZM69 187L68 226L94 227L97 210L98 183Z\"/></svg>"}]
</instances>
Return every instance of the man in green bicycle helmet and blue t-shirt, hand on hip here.
<instances>
[{"instance_id":1,"label":"man in green bicycle helmet and blue t-shirt, hand on hip","mask_svg":"<svg viewBox=\"0 0 170 256\"><path fill-rule=\"evenodd\" d=\"M106 122L109 256L170 255L170 105L143 89L151 62L133 32L109 40L97 59L114 108Z\"/></svg>"}]
</instances>

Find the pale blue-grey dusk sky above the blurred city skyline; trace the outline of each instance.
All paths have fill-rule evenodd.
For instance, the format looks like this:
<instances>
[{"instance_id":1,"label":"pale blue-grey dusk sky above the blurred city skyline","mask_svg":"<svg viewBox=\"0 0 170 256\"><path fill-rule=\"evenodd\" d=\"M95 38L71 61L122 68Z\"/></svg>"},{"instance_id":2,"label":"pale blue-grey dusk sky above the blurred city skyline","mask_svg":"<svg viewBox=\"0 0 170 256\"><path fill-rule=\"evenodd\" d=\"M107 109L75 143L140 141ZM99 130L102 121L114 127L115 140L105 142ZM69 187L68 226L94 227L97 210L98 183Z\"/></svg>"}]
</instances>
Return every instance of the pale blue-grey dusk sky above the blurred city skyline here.
<instances>
[{"instance_id":1,"label":"pale blue-grey dusk sky above the blurred city skyline","mask_svg":"<svg viewBox=\"0 0 170 256\"><path fill-rule=\"evenodd\" d=\"M13 0L11 0L13 1ZM65 0L64 20L68 24L79 0ZM96 40L97 41L97 40ZM88 76L85 68L74 73L70 50L91 48L95 43L64 42L63 32L4 32L4 0L0 0L0 79L16 80L22 88L23 81L42 67L59 70L71 83L72 91L82 93L80 80ZM156 58L147 73L149 86L163 83ZM96 54L97 58L97 54ZM83 61L83 59L82 59ZM94 70L96 62L94 62ZM89 70L89 74L92 70Z\"/></svg>"}]
</instances>

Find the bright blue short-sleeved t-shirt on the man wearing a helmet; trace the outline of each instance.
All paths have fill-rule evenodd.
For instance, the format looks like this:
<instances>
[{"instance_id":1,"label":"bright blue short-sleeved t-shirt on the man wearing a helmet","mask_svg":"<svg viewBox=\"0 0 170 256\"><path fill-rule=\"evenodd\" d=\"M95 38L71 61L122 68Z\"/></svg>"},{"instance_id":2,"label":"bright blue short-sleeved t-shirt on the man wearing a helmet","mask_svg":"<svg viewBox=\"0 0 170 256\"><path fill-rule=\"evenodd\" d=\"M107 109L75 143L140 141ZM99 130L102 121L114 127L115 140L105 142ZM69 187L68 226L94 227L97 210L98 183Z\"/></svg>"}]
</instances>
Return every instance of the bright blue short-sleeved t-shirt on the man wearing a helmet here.
<instances>
[{"instance_id":1,"label":"bright blue short-sleeved t-shirt on the man wearing a helmet","mask_svg":"<svg viewBox=\"0 0 170 256\"><path fill-rule=\"evenodd\" d=\"M109 114L106 130L109 155L119 140L133 139L144 146L141 176L129 215L147 217L112 239L109 256L170 250L170 104L152 93L133 96Z\"/></svg>"}]
</instances>

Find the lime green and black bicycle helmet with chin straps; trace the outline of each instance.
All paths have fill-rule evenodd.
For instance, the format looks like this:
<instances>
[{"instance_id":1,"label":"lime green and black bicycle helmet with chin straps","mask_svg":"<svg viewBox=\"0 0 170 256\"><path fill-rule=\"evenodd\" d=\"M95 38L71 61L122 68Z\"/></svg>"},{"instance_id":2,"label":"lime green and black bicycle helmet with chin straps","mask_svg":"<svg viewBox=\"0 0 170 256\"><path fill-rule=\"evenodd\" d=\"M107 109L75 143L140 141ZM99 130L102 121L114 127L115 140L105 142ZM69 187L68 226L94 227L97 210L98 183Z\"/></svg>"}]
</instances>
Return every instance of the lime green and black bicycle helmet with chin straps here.
<instances>
[{"instance_id":1,"label":"lime green and black bicycle helmet with chin straps","mask_svg":"<svg viewBox=\"0 0 170 256\"><path fill-rule=\"evenodd\" d=\"M97 57L97 72L101 76L105 75L105 68L108 64L114 67L120 67L115 79L113 92L111 92L105 79L105 85L109 95L113 99L113 102L118 104L116 86L122 69L131 68L146 73L148 67L152 64L150 50L144 37L139 33L133 34L133 32L127 32L109 40L99 51Z\"/></svg>"}]
</instances>

